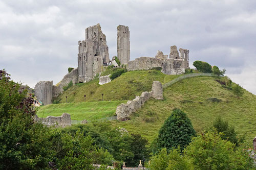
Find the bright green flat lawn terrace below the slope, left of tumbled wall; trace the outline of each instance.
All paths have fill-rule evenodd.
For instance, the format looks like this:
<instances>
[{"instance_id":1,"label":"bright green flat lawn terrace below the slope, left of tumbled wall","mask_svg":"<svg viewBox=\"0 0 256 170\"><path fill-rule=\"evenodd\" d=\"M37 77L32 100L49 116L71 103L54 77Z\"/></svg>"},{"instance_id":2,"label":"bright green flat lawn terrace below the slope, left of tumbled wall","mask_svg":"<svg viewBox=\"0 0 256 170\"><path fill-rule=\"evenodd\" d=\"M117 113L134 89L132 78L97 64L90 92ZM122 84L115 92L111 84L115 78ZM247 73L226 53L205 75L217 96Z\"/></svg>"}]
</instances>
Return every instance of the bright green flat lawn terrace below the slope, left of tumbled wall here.
<instances>
[{"instance_id":1,"label":"bright green flat lawn terrace below the slope, left of tumbled wall","mask_svg":"<svg viewBox=\"0 0 256 170\"><path fill-rule=\"evenodd\" d=\"M116 107L127 101L62 103L41 106L38 117L60 116L69 113L72 120L95 120L115 115Z\"/></svg>"}]
</instances>

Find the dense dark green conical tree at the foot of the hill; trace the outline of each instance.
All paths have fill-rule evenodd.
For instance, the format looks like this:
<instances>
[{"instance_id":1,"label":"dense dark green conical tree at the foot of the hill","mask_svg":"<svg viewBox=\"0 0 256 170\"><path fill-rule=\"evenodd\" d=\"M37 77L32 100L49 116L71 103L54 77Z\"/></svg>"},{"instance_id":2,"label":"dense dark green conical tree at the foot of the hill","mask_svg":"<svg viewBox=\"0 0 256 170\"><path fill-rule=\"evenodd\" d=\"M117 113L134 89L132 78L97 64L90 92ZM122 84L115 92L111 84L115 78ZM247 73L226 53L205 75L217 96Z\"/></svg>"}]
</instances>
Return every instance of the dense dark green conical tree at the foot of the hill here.
<instances>
[{"instance_id":1,"label":"dense dark green conical tree at the foot of the hill","mask_svg":"<svg viewBox=\"0 0 256 170\"><path fill-rule=\"evenodd\" d=\"M196 131L187 115L180 109L174 109L159 130L158 149L170 150L180 146L183 150L195 135Z\"/></svg>"}]
</instances>

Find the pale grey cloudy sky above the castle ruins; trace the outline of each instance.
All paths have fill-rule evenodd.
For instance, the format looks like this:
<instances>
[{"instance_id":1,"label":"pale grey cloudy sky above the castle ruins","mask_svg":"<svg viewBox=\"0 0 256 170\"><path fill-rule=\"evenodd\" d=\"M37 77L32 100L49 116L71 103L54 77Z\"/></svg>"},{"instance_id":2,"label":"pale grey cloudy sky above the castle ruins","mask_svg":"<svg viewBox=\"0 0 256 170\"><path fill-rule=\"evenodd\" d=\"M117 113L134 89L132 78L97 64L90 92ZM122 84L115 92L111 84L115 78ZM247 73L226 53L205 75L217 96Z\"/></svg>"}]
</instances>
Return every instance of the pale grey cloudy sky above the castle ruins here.
<instances>
[{"instance_id":1,"label":"pale grey cloudy sky above the castle ruins","mask_svg":"<svg viewBox=\"0 0 256 170\"><path fill-rule=\"evenodd\" d=\"M117 26L130 29L131 60L169 54L170 45L196 60L225 68L256 94L256 1L0 0L0 69L34 88L58 83L77 67L78 40L100 23L110 57L117 54Z\"/></svg>"}]
</instances>

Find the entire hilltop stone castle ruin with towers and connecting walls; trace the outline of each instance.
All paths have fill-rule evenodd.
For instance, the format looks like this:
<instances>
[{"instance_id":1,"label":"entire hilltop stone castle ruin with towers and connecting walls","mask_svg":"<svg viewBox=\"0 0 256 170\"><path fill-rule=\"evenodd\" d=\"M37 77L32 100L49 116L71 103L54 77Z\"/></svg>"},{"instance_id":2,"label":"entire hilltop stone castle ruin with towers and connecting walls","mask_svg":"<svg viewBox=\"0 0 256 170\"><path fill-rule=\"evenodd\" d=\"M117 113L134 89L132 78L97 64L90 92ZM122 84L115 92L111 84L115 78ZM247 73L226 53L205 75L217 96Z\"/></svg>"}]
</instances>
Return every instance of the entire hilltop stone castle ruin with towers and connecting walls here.
<instances>
[{"instance_id":1,"label":"entire hilltop stone castle ruin with towers and connecting walls","mask_svg":"<svg viewBox=\"0 0 256 170\"><path fill-rule=\"evenodd\" d=\"M155 58L140 57L134 61L130 61L130 31L129 27L119 25L117 27L117 58L120 64L126 65L128 71L151 69L153 67L161 67L161 72L166 75L179 75L189 68L188 50L183 48L177 50L177 46L170 46L170 54L164 55L158 51ZM169 58L168 58L169 56ZM106 44L106 36L101 31L99 23L86 29L86 39L78 41L78 67L73 69L63 77L58 86L51 82L38 82L35 85L35 96L38 101L44 105L52 103L54 97L63 92L63 87L71 81L73 84L78 82L89 82L96 75L100 75L102 71L109 65L119 67L115 61L109 58L109 47ZM100 84L109 83L111 80L107 77L101 78Z\"/></svg>"}]
</instances>

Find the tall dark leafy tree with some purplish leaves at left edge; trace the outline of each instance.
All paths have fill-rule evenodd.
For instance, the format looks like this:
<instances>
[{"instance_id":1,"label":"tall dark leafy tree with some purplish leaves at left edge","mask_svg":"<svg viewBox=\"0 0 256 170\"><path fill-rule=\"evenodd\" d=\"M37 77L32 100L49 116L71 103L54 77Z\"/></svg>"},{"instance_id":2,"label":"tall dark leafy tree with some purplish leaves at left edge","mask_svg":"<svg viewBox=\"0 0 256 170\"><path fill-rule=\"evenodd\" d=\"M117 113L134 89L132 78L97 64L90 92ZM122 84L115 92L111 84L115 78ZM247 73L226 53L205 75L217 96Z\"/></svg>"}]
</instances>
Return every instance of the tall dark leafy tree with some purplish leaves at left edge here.
<instances>
[{"instance_id":1,"label":"tall dark leafy tree with some purplish leaves at left edge","mask_svg":"<svg viewBox=\"0 0 256 170\"><path fill-rule=\"evenodd\" d=\"M0 70L0 169L46 168L50 160L48 128L34 124L34 100Z\"/></svg>"}]
</instances>

